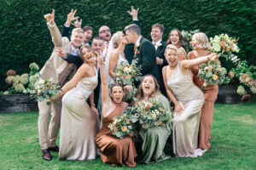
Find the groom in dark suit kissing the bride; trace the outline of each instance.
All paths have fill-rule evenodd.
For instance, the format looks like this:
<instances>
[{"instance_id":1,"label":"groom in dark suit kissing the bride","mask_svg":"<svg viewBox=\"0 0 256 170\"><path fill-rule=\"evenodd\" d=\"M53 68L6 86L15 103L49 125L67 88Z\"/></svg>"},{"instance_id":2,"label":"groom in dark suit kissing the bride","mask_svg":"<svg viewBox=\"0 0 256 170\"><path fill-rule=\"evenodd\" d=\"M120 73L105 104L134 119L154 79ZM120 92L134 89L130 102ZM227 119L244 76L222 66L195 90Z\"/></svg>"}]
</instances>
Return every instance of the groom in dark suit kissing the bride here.
<instances>
[{"instance_id":1,"label":"groom in dark suit kissing the bride","mask_svg":"<svg viewBox=\"0 0 256 170\"><path fill-rule=\"evenodd\" d=\"M137 66L141 67L143 76L153 75L160 84L160 75L156 65L155 48L148 39L142 37L139 26L131 24L125 27L126 38L129 43L134 43L134 58L137 59Z\"/></svg>"}]
</instances>

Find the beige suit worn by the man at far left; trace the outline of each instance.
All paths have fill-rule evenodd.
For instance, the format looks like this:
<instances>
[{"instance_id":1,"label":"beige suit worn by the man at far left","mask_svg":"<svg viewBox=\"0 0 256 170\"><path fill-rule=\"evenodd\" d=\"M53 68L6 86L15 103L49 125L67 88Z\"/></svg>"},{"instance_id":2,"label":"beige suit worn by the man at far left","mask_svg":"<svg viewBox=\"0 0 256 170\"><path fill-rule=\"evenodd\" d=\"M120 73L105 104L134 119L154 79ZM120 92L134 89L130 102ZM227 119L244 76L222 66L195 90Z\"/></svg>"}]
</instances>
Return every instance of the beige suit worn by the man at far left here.
<instances>
[{"instance_id":1,"label":"beige suit worn by the man at far left","mask_svg":"<svg viewBox=\"0 0 256 170\"><path fill-rule=\"evenodd\" d=\"M42 75L42 78L52 78L53 82L58 83L58 78L61 72L67 67L67 61L61 59L61 57L55 53L55 49L61 48L64 52L71 53L71 42L69 42L67 37L61 37L61 32L56 25L49 26L49 23L47 25L55 48L40 71L40 74ZM38 102L38 108L39 143L41 149L44 150L48 147L54 147L56 145L55 140L58 136L61 122L61 98L51 102L51 105L47 105L45 101ZM51 120L49 122L50 113Z\"/></svg>"}]
</instances>

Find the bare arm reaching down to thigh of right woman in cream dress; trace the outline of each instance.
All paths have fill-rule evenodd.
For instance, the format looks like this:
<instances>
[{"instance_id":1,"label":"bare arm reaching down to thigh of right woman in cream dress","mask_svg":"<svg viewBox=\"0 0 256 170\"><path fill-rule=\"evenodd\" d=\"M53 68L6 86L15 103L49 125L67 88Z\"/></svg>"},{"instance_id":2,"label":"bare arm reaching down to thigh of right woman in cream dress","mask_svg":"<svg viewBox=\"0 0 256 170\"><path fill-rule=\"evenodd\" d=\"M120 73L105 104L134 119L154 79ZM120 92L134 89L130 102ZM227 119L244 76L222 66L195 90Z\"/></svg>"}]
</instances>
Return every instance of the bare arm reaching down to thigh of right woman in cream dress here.
<instances>
[{"instance_id":1,"label":"bare arm reaching down to thigh of right woman in cream dress","mask_svg":"<svg viewBox=\"0 0 256 170\"><path fill-rule=\"evenodd\" d=\"M172 90L170 88L168 88L168 86L167 86L167 77L166 77L167 66L163 67L163 69L162 69L166 93L167 93L168 97L172 100L172 103L175 105L174 112L180 113L181 111L183 111L183 108L178 104L177 99L175 98L174 94L172 94Z\"/></svg>"}]
</instances>

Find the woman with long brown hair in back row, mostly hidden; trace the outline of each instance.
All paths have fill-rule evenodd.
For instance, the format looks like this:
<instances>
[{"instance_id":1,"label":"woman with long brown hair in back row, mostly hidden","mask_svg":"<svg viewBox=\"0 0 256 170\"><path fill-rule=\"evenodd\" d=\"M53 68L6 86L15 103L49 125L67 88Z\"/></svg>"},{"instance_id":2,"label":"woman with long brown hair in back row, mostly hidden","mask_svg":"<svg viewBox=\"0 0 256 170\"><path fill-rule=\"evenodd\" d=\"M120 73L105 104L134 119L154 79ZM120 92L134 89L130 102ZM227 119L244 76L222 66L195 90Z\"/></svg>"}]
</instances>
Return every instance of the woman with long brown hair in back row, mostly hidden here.
<instances>
[{"instance_id":1,"label":"woman with long brown hair in back row, mostly hidden","mask_svg":"<svg viewBox=\"0 0 256 170\"><path fill-rule=\"evenodd\" d=\"M186 46L185 46L185 43L183 42L183 35L179 30L173 29L169 33L169 36L168 36L168 39L166 42L167 42L167 44L172 44L172 45L176 46L177 49L179 49L179 51L178 51L179 60L188 58Z\"/></svg>"}]
</instances>

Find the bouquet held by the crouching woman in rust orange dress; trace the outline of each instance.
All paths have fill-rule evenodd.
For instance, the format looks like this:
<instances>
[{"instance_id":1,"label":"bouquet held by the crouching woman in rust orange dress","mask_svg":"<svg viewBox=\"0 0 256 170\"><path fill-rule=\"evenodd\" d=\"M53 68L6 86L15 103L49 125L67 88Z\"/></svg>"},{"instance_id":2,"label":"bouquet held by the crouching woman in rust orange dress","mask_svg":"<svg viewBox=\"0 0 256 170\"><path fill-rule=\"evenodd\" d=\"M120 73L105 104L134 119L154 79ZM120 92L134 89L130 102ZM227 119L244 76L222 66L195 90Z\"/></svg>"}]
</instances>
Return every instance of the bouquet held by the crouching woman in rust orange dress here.
<instances>
[{"instance_id":1,"label":"bouquet held by the crouching woman in rust orange dress","mask_svg":"<svg viewBox=\"0 0 256 170\"><path fill-rule=\"evenodd\" d=\"M114 136L123 139L125 135L131 133L133 127L130 117L124 112L121 116L114 116L113 122L108 125L108 128Z\"/></svg>"}]
</instances>

